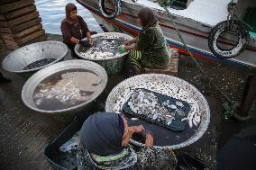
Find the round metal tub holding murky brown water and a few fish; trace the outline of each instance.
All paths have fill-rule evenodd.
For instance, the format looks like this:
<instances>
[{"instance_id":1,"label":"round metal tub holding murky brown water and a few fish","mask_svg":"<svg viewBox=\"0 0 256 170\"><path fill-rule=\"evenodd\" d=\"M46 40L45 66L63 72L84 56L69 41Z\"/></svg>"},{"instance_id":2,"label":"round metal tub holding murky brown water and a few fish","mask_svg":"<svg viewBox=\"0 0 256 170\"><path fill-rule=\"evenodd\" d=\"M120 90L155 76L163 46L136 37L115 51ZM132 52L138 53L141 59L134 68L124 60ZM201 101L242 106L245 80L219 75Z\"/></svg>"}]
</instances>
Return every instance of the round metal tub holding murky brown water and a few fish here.
<instances>
[{"instance_id":1,"label":"round metal tub holding murky brown water and a few fish","mask_svg":"<svg viewBox=\"0 0 256 170\"><path fill-rule=\"evenodd\" d=\"M66 70L69 71L69 69L86 69L90 72L95 73L97 76L101 78L100 90L97 90L94 94L92 94L86 102L69 107L68 109L52 111L39 109L33 100L33 94L35 92L36 87L40 85L45 78L52 76L55 73L59 73ZM23 103L25 103L25 105L27 105L33 111L49 113L50 115L58 117L60 121L68 122L72 121L76 113L84 111L84 109L87 109L89 104L92 103L96 99L96 97L102 94L102 92L105 89L106 83L107 75L105 69L99 66L98 64L82 59L67 60L51 65L50 67L43 68L40 71L36 72L34 75L32 75L27 80L25 85L23 85L22 99Z\"/></svg>"}]
</instances>

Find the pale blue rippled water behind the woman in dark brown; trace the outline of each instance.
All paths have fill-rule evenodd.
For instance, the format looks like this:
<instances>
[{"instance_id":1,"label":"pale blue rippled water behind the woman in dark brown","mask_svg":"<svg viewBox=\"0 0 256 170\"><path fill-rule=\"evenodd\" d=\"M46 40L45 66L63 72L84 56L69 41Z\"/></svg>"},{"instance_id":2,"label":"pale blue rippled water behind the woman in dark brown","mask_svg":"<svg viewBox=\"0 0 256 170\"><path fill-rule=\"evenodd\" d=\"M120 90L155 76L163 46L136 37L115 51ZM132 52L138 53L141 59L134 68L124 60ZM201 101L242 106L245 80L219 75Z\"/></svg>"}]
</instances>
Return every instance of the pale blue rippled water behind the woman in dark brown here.
<instances>
[{"instance_id":1,"label":"pale blue rippled water behind the woman in dark brown","mask_svg":"<svg viewBox=\"0 0 256 170\"><path fill-rule=\"evenodd\" d=\"M60 23L65 18L65 5L68 3L77 5L78 14L87 22L90 31L103 32L93 15L76 0L35 0L42 27L47 33L61 34Z\"/></svg>"}]
</instances>

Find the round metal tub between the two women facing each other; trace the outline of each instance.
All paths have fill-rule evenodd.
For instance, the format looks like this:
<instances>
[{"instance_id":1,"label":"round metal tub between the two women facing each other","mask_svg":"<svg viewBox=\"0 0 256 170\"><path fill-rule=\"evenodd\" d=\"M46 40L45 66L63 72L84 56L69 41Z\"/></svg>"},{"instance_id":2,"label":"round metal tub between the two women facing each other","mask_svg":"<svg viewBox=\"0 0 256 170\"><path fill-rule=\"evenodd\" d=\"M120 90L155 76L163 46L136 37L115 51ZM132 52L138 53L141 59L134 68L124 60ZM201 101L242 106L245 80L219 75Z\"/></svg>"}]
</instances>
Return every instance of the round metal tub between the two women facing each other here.
<instances>
[{"instance_id":1,"label":"round metal tub between the two women facing each other","mask_svg":"<svg viewBox=\"0 0 256 170\"><path fill-rule=\"evenodd\" d=\"M118 36L123 37L127 40L132 39L130 35L119 33L119 32L105 32L105 33L98 33L95 35L92 35L92 38L101 37L101 36ZM86 39L85 39L86 40ZM94 61L105 68L105 71L108 75L114 75L118 72L120 72L124 67L125 58L128 56L129 52L123 53L120 57L110 57L110 58L87 58L84 56L81 56L79 53L80 45L77 44L75 46L75 52L80 58L84 58L87 60Z\"/></svg>"}]
</instances>

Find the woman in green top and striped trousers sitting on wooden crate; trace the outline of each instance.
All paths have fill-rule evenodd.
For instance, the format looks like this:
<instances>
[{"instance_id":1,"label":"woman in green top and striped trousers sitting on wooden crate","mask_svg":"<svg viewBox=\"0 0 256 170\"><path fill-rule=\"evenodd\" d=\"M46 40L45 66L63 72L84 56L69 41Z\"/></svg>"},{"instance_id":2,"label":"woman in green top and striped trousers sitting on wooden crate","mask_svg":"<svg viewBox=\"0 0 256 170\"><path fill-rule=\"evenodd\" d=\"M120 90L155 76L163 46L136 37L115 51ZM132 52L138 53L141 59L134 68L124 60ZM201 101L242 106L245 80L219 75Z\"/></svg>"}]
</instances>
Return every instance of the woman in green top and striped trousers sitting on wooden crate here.
<instances>
[{"instance_id":1,"label":"woman in green top and striped trousers sitting on wooden crate","mask_svg":"<svg viewBox=\"0 0 256 170\"><path fill-rule=\"evenodd\" d=\"M125 50L132 50L129 65L135 74L142 73L143 67L165 68L169 66L169 50L157 18L150 8L138 13L142 31L138 37L124 43Z\"/></svg>"}]
</instances>

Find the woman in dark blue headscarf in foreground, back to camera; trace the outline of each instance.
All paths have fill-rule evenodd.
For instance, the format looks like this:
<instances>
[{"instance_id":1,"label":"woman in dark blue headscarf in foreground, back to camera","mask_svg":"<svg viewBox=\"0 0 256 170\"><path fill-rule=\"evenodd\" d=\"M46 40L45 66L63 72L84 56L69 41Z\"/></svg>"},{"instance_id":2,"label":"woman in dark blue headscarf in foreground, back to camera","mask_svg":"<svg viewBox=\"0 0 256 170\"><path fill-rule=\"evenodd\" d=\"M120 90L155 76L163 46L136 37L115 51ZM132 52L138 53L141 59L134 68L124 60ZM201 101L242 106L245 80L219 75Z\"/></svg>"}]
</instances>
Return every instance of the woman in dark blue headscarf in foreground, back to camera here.
<instances>
[{"instance_id":1,"label":"woman in dark blue headscarf in foreground, back to camera","mask_svg":"<svg viewBox=\"0 0 256 170\"><path fill-rule=\"evenodd\" d=\"M78 170L86 169L174 169L177 159L169 149L156 150L153 137L145 133L145 147L135 152L129 145L140 126L129 127L120 114L96 112L79 131Z\"/></svg>"}]
</instances>

